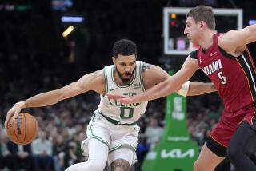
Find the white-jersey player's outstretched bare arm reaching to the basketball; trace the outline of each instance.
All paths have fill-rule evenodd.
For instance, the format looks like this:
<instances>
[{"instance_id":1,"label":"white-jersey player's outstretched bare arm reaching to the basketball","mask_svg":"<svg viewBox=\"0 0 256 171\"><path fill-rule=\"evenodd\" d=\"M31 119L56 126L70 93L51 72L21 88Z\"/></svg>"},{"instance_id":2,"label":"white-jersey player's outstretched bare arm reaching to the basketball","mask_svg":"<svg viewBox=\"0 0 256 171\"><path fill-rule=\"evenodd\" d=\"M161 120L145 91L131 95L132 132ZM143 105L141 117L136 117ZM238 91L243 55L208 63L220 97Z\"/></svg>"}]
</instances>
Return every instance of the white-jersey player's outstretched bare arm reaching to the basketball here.
<instances>
[{"instance_id":1,"label":"white-jersey player's outstretched bare arm reaching to the basketball","mask_svg":"<svg viewBox=\"0 0 256 171\"><path fill-rule=\"evenodd\" d=\"M62 87L61 89L55 89L46 93L39 93L38 95L26 99L25 101L19 101L7 112L6 122L9 121L12 115L17 117L18 113L23 108L54 105L58 103L58 101L77 96L81 93L86 93L90 90L104 94L105 79L103 70L98 70L94 73L86 74L77 82L72 82L69 85Z\"/></svg>"}]
</instances>

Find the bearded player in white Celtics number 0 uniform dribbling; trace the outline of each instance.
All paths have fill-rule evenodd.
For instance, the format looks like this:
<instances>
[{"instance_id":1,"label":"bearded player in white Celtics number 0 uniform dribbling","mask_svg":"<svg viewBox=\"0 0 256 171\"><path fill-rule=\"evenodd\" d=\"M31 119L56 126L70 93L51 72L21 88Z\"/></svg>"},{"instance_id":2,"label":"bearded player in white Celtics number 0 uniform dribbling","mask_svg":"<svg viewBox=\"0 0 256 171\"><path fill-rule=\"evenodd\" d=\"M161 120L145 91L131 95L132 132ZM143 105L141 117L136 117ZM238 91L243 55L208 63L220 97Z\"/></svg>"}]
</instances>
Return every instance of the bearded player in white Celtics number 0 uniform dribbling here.
<instances>
[{"instance_id":1,"label":"bearded player in white Celtics number 0 uniform dribbling","mask_svg":"<svg viewBox=\"0 0 256 171\"><path fill-rule=\"evenodd\" d=\"M89 153L86 162L71 165L67 171L102 171L106 162L112 171L130 170L136 161L139 127L136 121L145 113L147 101L124 105L110 100L108 94L134 96L165 81L170 76L158 66L136 61L137 46L122 39L114 43L114 65L86 74L77 82L61 89L40 93L16 103L7 113L6 122L21 109L53 105L89 90L101 95L98 110L94 111L87 127L87 139L82 142L82 153ZM178 90L178 89L177 89ZM186 82L179 91L182 95L199 95L216 91L212 83Z\"/></svg>"}]
</instances>

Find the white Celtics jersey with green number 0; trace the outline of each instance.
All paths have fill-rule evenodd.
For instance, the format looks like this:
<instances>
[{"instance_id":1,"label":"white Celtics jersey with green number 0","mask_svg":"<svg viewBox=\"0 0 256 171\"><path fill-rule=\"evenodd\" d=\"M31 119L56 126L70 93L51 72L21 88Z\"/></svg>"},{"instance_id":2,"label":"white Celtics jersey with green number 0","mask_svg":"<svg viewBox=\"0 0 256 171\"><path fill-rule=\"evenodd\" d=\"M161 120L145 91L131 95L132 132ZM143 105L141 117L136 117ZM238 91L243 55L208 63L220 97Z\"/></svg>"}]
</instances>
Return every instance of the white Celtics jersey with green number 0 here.
<instances>
[{"instance_id":1,"label":"white Celtics jersey with green number 0","mask_svg":"<svg viewBox=\"0 0 256 171\"><path fill-rule=\"evenodd\" d=\"M128 85L118 85L114 82L114 65L105 66L104 68L106 93L134 96L144 91L142 82L142 62L136 61L136 68L134 71L134 78ZM111 119L119 121L122 124L130 124L137 121L146 111L147 101L125 105L116 100L103 97L101 95L101 102L98 105L98 111Z\"/></svg>"}]
</instances>

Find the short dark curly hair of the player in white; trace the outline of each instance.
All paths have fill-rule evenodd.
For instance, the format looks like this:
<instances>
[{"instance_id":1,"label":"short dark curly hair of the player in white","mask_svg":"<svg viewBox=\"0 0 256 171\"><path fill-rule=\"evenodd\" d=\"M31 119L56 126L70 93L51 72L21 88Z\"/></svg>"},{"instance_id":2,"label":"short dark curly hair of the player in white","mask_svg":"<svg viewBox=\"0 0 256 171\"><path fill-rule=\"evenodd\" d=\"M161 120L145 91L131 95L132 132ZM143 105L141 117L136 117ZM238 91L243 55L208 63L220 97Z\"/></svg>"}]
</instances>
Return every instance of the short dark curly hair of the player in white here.
<instances>
[{"instance_id":1,"label":"short dark curly hair of the player in white","mask_svg":"<svg viewBox=\"0 0 256 171\"><path fill-rule=\"evenodd\" d=\"M113 56L118 58L118 54L121 55L132 55L135 54L137 57L137 45L129 39L120 39L114 42L113 46Z\"/></svg>"}]
</instances>

